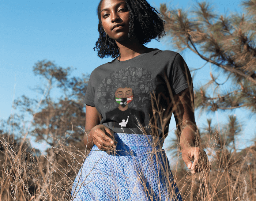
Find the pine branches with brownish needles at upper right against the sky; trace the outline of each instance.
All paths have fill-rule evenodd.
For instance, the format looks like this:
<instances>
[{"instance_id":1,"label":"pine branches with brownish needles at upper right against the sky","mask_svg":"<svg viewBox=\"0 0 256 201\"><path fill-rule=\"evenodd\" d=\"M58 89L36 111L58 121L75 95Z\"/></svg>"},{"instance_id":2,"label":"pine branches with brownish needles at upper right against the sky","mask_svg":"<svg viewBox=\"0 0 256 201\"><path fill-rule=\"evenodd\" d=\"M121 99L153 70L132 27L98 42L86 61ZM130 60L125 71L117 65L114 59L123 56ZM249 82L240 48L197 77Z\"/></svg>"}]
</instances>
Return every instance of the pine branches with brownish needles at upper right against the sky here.
<instances>
[{"instance_id":1,"label":"pine branches with brownish needles at upper right against the sky","mask_svg":"<svg viewBox=\"0 0 256 201\"><path fill-rule=\"evenodd\" d=\"M161 4L165 30L174 48L191 50L226 75L226 81L219 83L218 76L211 73L210 82L195 89L195 108L216 111L242 107L256 113L256 1L243 1L242 5L245 14L218 16L206 2L198 3L192 12ZM219 90L227 81L231 82L229 89Z\"/></svg>"}]
</instances>

